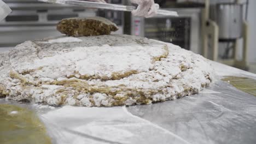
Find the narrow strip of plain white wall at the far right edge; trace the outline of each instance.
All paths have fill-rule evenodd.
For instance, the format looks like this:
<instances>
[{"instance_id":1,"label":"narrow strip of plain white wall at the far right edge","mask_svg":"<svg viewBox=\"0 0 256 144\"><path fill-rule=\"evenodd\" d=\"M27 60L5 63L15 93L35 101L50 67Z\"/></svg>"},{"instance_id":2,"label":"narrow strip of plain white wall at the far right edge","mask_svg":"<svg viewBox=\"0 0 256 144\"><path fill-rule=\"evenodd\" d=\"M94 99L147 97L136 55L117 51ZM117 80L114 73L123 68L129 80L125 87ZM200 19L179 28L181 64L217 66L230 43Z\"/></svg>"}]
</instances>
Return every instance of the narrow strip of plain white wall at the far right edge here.
<instances>
[{"instance_id":1,"label":"narrow strip of plain white wall at the far right edge","mask_svg":"<svg viewBox=\"0 0 256 144\"><path fill-rule=\"evenodd\" d=\"M248 62L256 63L256 1L255 0L249 0L248 22L249 22Z\"/></svg>"}]
</instances>

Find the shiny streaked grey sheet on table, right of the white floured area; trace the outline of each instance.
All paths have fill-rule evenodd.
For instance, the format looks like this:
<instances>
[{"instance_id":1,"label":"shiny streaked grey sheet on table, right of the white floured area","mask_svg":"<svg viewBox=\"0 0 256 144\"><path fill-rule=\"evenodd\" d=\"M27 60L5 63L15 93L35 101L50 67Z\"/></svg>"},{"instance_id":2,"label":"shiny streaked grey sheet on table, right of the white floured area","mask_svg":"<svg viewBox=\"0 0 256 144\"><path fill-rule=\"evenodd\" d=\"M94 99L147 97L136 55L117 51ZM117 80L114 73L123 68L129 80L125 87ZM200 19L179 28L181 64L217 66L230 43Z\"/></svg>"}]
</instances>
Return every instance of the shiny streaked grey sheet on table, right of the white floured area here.
<instances>
[{"instance_id":1,"label":"shiny streaked grey sheet on table, right of the white floured area","mask_svg":"<svg viewBox=\"0 0 256 144\"><path fill-rule=\"evenodd\" d=\"M256 97L221 81L209 89L128 110L189 143L256 143Z\"/></svg>"}]
</instances>

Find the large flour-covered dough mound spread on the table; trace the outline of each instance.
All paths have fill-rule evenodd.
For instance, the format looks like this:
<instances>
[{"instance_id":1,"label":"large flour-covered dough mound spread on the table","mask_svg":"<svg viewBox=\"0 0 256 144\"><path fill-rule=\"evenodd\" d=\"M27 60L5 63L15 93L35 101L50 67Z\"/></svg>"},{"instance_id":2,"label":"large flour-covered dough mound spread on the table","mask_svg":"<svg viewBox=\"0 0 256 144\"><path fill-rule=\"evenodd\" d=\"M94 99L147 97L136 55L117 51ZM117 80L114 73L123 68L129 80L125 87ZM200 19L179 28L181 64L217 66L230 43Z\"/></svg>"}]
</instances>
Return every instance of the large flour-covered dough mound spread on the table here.
<instances>
[{"instance_id":1,"label":"large flour-covered dough mound spread on the table","mask_svg":"<svg viewBox=\"0 0 256 144\"><path fill-rule=\"evenodd\" d=\"M130 35L26 41L0 55L0 95L49 105L151 104L198 93L213 79L202 56Z\"/></svg>"}]
</instances>

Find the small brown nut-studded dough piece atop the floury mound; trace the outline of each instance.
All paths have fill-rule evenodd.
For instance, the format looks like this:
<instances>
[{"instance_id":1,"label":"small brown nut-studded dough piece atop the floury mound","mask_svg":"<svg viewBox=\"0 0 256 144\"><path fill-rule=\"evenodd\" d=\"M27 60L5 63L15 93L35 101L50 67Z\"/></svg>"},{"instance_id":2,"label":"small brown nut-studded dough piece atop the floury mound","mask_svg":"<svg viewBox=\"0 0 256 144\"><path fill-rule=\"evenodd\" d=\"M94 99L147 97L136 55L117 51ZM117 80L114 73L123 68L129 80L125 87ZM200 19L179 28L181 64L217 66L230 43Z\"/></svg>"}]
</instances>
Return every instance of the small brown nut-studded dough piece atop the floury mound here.
<instances>
[{"instance_id":1,"label":"small brown nut-studded dough piece atop the floury mound","mask_svg":"<svg viewBox=\"0 0 256 144\"><path fill-rule=\"evenodd\" d=\"M72 37L110 34L118 30L115 23L103 17L73 17L61 20L57 30Z\"/></svg>"}]
</instances>

